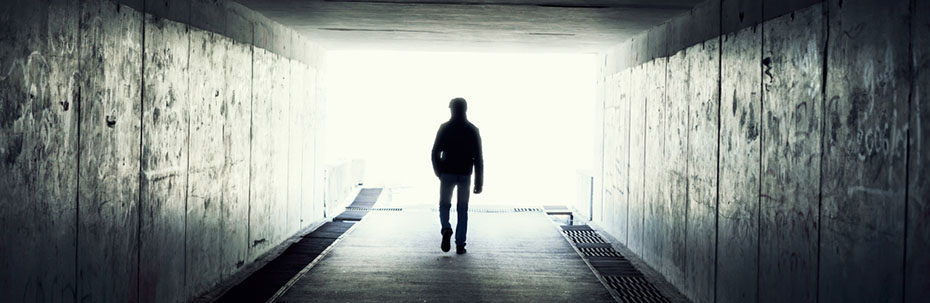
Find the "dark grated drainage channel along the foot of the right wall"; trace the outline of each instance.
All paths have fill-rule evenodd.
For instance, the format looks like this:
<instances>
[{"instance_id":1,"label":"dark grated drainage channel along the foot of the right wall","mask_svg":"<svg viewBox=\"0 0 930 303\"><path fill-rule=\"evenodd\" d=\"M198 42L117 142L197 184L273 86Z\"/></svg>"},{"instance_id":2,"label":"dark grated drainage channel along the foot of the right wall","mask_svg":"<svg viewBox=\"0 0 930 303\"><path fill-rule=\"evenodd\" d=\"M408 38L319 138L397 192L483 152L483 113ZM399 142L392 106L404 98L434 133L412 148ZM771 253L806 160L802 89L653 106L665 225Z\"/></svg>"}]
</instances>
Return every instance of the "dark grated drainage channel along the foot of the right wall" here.
<instances>
[{"instance_id":1,"label":"dark grated drainage channel along the foot of the right wall","mask_svg":"<svg viewBox=\"0 0 930 303\"><path fill-rule=\"evenodd\" d=\"M575 247L618 302L671 303L642 272L587 225L562 225Z\"/></svg>"}]
</instances>

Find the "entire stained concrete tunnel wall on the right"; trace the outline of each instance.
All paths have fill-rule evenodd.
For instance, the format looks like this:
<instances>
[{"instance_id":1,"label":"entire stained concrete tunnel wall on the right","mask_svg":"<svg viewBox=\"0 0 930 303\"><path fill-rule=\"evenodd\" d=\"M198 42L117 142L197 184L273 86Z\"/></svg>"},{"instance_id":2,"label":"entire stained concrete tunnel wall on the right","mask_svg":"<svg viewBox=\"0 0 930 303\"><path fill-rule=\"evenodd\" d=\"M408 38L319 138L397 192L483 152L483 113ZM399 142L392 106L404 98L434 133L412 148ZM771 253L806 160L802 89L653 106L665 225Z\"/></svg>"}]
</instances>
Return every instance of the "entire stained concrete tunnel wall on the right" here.
<instances>
[{"instance_id":1,"label":"entire stained concrete tunnel wall on the right","mask_svg":"<svg viewBox=\"0 0 930 303\"><path fill-rule=\"evenodd\" d=\"M923 2L710 0L603 54L597 223L695 302L925 300Z\"/></svg>"}]
</instances>

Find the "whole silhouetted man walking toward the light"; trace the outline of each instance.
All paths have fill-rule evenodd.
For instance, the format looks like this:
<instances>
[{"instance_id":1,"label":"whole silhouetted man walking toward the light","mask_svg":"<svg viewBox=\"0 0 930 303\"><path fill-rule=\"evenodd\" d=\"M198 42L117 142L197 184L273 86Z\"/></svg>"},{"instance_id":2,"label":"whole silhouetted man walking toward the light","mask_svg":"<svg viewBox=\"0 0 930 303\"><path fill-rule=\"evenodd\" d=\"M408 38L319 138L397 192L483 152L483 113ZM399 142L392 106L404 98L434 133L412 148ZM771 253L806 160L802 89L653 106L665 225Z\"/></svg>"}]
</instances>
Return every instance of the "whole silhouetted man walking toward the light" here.
<instances>
[{"instance_id":1,"label":"whole silhouetted man walking toward the light","mask_svg":"<svg viewBox=\"0 0 930 303\"><path fill-rule=\"evenodd\" d=\"M449 224L449 209L452 208L452 189L458 187L455 226L455 253L465 253L465 233L468 230L468 189L472 167L475 169L475 194L481 193L484 185L484 160L481 156L481 136L478 128L468 122L465 99L455 98L449 102L452 118L443 123L433 143L433 172L439 177L439 223L442 224L442 251L449 251L452 225Z\"/></svg>"}]
</instances>

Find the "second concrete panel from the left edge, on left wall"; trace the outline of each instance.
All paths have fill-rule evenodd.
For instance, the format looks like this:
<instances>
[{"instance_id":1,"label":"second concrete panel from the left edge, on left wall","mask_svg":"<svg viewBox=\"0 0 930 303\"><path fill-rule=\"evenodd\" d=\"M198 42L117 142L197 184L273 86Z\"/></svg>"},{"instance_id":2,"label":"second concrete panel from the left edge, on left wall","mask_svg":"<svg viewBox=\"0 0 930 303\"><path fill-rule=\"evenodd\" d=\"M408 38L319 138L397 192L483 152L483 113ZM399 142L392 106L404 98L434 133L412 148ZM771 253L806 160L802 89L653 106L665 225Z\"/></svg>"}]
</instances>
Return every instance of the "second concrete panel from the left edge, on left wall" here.
<instances>
[{"instance_id":1,"label":"second concrete panel from the left edge, on left wall","mask_svg":"<svg viewBox=\"0 0 930 303\"><path fill-rule=\"evenodd\" d=\"M142 14L115 3L82 4L76 296L126 302L139 285Z\"/></svg>"}]
</instances>

